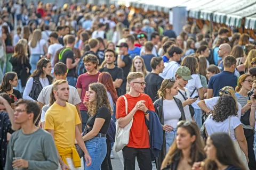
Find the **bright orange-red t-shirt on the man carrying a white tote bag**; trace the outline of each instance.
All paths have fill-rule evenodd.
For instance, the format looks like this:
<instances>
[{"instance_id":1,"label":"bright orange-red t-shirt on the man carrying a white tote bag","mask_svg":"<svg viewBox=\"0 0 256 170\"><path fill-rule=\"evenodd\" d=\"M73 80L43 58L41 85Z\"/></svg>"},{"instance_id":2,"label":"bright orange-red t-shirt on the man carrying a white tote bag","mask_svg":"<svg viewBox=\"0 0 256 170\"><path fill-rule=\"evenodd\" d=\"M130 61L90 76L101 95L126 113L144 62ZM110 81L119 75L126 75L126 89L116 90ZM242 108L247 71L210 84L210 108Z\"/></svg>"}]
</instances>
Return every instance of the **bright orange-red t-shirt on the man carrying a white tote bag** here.
<instances>
[{"instance_id":1,"label":"bright orange-red t-shirt on the man carrying a white tote bag","mask_svg":"<svg viewBox=\"0 0 256 170\"><path fill-rule=\"evenodd\" d=\"M128 103L128 114L132 111L138 101L145 100L145 105L149 111L154 111L155 108L151 98L146 94L140 94L138 97L132 97L129 94L124 95ZM121 96L116 102L116 118L125 117L125 101ZM138 110L133 116L132 128L130 130L130 139L127 147L132 148L150 148L149 133L145 123L145 114Z\"/></svg>"}]
</instances>

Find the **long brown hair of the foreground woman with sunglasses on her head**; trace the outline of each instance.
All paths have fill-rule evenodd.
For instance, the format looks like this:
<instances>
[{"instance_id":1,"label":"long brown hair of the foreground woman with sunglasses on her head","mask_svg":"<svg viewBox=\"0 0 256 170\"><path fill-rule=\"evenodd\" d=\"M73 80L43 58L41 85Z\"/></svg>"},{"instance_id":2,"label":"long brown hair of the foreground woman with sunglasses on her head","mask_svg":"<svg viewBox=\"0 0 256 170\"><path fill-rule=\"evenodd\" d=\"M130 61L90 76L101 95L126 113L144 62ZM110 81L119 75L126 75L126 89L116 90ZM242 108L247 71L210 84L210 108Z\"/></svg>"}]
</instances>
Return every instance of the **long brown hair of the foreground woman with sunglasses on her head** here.
<instances>
[{"instance_id":1,"label":"long brown hair of the foreground woman with sunglasses on her head","mask_svg":"<svg viewBox=\"0 0 256 170\"><path fill-rule=\"evenodd\" d=\"M192 166L195 162L202 161L205 158L205 152L197 124L193 121L180 121L177 126L177 129L179 128L186 129L190 136L195 135L196 137L196 140L193 143L191 143L191 162L189 162L189 165ZM172 162L175 162L174 157L176 156L179 156L181 158L182 150L178 149L177 141L175 139L163 160L161 169L165 168L167 165L170 165Z\"/></svg>"}]
</instances>

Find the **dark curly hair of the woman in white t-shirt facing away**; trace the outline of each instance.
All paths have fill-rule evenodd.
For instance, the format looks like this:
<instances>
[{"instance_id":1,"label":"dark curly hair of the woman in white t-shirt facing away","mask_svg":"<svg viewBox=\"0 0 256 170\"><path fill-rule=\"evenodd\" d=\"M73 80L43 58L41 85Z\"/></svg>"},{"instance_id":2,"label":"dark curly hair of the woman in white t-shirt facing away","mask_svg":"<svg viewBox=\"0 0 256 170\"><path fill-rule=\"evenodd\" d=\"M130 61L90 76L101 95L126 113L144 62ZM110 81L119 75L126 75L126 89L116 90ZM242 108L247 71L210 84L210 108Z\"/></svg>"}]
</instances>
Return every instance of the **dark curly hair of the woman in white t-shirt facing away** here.
<instances>
[{"instance_id":1,"label":"dark curly hair of the woman in white t-shirt facing away","mask_svg":"<svg viewBox=\"0 0 256 170\"><path fill-rule=\"evenodd\" d=\"M213 107L212 119L216 122L223 122L229 116L237 116L236 101L232 96L222 95Z\"/></svg>"}]
</instances>

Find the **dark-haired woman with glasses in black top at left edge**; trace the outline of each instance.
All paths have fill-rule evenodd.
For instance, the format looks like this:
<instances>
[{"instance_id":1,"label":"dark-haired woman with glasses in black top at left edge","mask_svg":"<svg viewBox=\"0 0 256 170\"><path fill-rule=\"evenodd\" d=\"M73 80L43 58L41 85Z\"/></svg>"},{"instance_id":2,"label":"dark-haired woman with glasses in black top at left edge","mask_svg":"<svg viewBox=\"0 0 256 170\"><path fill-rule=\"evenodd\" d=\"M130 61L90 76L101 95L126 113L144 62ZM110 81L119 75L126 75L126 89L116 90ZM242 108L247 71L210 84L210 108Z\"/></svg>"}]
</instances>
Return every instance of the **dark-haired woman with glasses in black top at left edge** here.
<instances>
[{"instance_id":1,"label":"dark-haired woman with glasses in black top at left edge","mask_svg":"<svg viewBox=\"0 0 256 170\"><path fill-rule=\"evenodd\" d=\"M22 95L19 90L13 89L18 85L18 76L14 72L8 72L4 74L3 82L0 88L0 94L6 93L15 96L15 104L18 100L22 99Z\"/></svg>"}]
</instances>

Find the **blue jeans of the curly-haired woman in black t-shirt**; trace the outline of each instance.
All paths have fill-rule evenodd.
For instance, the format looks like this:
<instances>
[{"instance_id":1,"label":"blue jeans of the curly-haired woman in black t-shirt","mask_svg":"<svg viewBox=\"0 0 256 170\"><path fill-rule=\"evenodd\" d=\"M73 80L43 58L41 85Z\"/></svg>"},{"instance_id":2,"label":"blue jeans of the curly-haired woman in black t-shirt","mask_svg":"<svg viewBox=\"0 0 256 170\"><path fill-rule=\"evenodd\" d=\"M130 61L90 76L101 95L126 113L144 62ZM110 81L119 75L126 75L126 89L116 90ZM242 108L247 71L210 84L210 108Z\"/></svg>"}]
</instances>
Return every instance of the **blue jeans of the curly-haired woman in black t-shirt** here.
<instances>
[{"instance_id":1,"label":"blue jeans of the curly-haired woman in black t-shirt","mask_svg":"<svg viewBox=\"0 0 256 170\"><path fill-rule=\"evenodd\" d=\"M105 137L94 137L88 141L85 141L85 146L92 158L92 164L86 166L84 159L84 170L100 170L101 164L107 154L107 143Z\"/></svg>"}]
</instances>

